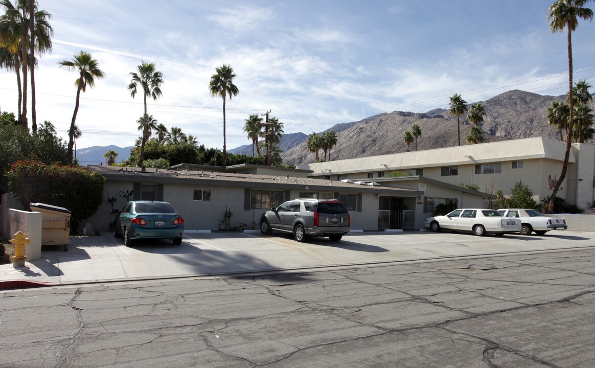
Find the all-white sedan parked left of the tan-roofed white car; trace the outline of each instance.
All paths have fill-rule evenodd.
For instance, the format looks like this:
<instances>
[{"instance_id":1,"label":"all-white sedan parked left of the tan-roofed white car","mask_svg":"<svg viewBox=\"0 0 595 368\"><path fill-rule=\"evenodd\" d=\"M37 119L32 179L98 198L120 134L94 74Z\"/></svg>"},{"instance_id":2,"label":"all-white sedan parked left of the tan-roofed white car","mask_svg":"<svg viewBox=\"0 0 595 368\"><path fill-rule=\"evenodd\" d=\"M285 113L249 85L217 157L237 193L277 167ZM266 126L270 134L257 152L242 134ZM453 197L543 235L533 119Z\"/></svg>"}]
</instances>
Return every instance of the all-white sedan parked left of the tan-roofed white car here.
<instances>
[{"instance_id":1,"label":"all-white sedan parked left of the tan-roofed white car","mask_svg":"<svg viewBox=\"0 0 595 368\"><path fill-rule=\"evenodd\" d=\"M438 232L441 229L450 231L472 231L475 235L513 234L521 231L521 220L506 218L493 209L456 209L447 215L425 219L424 227Z\"/></svg>"}]
</instances>

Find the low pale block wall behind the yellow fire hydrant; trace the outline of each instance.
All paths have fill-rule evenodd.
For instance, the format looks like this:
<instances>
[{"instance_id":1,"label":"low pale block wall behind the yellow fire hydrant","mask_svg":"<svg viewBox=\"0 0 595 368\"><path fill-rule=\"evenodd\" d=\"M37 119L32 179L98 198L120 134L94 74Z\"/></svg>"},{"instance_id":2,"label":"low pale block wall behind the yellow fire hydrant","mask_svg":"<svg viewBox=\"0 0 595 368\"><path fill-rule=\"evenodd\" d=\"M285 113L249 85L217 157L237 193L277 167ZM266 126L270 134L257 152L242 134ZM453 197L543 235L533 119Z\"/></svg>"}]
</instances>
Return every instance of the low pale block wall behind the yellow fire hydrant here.
<instances>
[{"instance_id":1,"label":"low pale block wall behind the yellow fire hydrant","mask_svg":"<svg viewBox=\"0 0 595 368\"><path fill-rule=\"evenodd\" d=\"M25 256L27 261L41 258L41 231L43 225L43 215L41 212L27 212L17 209L10 209L10 234L14 235L17 231L23 231L30 242L25 246Z\"/></svg>"}]
</instances>

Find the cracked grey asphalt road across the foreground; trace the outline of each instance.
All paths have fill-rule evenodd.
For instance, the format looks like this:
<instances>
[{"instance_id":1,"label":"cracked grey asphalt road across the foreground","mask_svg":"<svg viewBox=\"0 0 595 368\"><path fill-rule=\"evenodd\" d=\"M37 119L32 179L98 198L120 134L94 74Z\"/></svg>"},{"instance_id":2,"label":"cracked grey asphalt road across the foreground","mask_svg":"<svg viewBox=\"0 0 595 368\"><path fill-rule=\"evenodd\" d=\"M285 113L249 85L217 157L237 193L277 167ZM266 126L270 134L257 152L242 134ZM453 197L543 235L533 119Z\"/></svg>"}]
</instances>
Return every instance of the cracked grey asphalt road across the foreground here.
<instances>
[{"instance_id":1,"label":"cracked grey asphalt road across the foreground","mask_svg":"<svg viewBox=\"0 0 595 368\"><path fill-rule=\"evenodd\" d=\"M593 367L594 246L4 291L0 367Z\"/></svg>"}]
</instances>

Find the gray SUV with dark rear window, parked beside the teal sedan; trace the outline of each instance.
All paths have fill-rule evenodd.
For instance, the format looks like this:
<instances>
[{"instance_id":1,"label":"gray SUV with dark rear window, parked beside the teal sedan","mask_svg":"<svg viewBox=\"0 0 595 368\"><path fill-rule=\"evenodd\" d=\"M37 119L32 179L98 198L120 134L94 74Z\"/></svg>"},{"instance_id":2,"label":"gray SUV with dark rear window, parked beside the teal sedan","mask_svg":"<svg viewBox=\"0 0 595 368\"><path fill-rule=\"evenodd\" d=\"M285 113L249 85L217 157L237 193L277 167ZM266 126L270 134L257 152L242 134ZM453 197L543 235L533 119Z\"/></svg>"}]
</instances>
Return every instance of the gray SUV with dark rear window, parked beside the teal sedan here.
<instances>
[{"instance_id":1,"label":"gray SUV with dark rear window, parked beside the teal sedan","mask_svg":"<svg viewBox=\"0 0 595 368\"><path fill-rule=\"evenodd\" d=\"M349 232L349 212L336 199L294 199L262 214L262 234L273 230L293 233L299 242L309 237L328 237L339 241Z\"/></svg>"}]
</instances>

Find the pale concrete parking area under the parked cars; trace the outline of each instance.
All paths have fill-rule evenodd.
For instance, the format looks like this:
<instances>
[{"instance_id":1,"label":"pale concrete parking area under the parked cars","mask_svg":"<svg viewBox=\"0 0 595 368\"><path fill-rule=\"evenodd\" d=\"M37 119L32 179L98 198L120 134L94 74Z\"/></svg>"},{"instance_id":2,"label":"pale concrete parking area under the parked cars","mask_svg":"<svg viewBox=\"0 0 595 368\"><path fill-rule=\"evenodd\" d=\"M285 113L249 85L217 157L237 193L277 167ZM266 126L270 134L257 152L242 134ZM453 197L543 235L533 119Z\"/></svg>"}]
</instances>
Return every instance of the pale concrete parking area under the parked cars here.
<instances>
[{"instance_id":1,"label":"pale concrete parking area under the parked cars","mask_svg":"<svg viewBox=\"0 0 595 368\"><path fill-rule=\"evenodd\" d=\"M248 232L188 233L180 246L150 241L125 247L111 234L71 237L67 252L44 247L42 259L14 269L0 265L0 281L76 284L121 279L223 275L328 266L371 265L595 246L594 232L476 237L450 232L355 232L342 241Z\"/></svg>"}]
</instances>

